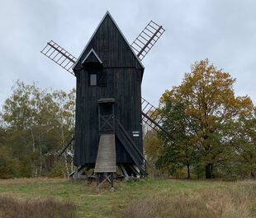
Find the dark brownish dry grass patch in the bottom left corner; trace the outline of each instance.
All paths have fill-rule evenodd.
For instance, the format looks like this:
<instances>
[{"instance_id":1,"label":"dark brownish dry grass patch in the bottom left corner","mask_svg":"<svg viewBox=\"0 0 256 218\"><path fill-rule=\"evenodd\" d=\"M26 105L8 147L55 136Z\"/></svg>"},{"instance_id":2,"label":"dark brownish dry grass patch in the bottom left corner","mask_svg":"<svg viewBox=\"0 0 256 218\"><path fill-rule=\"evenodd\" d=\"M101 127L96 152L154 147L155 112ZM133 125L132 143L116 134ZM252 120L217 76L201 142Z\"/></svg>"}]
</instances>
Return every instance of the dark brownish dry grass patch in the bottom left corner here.
<instances>
[{"instance_id":1,"label":"dark brownish dry grass patch in the bottom left corner","mask_svg":"<svg viewBox=\"0 0 256 218\"><path fill-rule=\"evenodd\" d=\"M12 197L0 197L2 218L74 218L75 207L70 202L56 202L51 198L17 202Z\"/></svg>"}]
</instances>

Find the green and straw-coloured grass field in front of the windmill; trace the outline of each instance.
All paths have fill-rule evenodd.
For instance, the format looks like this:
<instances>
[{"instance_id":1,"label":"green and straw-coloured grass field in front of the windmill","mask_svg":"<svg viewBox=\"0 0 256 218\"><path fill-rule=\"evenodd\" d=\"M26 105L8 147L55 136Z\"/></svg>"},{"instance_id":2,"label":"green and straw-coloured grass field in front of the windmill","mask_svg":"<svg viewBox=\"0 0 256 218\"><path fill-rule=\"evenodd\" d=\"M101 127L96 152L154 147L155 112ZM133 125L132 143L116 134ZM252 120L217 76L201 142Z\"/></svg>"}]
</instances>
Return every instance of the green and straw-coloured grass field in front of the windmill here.
<instances>
[{"instance_id":1,"label":"green and straw-coloured grass field in front of the windmill","mask_svg":"<svg viewBox=\"0 0 256 218\"><path fill-rule=\"evenodd\" d=\"M0 197L72 202L77 217L256 217L253 181L145 179L115 183L114 192L95 186L67 179L7 179L0 180Z\"/></svg>"}]
</instances>

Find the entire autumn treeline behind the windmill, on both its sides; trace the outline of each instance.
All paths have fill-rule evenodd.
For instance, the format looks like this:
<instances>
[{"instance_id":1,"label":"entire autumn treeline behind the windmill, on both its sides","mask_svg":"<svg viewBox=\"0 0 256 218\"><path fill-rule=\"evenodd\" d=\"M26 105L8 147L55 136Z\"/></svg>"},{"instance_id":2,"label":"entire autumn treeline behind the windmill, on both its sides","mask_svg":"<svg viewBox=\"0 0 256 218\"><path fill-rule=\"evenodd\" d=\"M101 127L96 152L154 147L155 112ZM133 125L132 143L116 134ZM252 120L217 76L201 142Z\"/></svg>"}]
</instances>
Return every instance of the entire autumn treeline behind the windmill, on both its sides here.
<instances>
[{"instance_id":1,"label":"entire autumn treeline behind the windmill, on both its sides","mask_svg":"<svg viewBox=\"0 0 256 218\"><path fill-rule=\"evenodd\" d=\"M256 178L256 108L248 96L235 96L234 84L206 59L192 65L180 86L164 92L160 122L173 138L145 131L149 174ZM68 176L70 156L52 158L73 132L74 113L75 90L41 90L17 81L0 114L0 179Z\"/></svg>"}]
</instances>

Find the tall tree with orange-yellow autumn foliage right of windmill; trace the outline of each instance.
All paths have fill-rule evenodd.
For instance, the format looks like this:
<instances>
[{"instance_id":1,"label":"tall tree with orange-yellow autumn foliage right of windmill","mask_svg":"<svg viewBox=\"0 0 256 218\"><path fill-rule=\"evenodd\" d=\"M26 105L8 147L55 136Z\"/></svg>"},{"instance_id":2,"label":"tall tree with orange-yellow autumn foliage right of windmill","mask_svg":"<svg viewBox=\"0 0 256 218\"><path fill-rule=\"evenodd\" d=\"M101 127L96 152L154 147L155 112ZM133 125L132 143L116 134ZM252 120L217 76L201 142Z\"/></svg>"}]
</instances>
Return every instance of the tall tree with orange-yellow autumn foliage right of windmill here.
<instances>
[{"instance_id":1,"label":"tall tree with orange-yellow autumn foliage right of windmill","mask_svg":"<svg viewBox=\"0 0 256 218\"><path fill-rule=\"evenodd\" d=\"M229 73L205 59L194 63L192 72L185 74L182 84L166 90L160 99L159 107L167 113L182 105L184 118L176 120L183 126L183 136L177 136L177 140L182 146L187 140L191 142L187 143L189 151L196 151L197 158L205 165L206 179L213 177L214 165L228 157L230 139L225 137L225 132L230 123L250 114L253 107L248 96L235 97L234 83ZM164 125L171 132L179 131L175 124L173 127L172 123ZM183 137L185 141L181 140Z\"/></svg>"}]
</instances>

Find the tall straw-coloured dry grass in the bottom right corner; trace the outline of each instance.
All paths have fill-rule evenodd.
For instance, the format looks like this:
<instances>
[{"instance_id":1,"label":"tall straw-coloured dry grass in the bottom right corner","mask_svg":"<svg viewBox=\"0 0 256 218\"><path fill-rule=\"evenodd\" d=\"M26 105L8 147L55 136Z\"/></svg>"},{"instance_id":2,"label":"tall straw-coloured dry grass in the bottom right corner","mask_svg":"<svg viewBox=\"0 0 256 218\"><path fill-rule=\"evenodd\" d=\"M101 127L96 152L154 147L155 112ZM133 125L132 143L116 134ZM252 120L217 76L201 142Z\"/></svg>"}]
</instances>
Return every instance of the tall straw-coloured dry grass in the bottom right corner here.
<instances>
[{"instance_id":1,"label":"tall straw-coloured dry grass in the bottom right corner","mask_svg":"<svg viewBox=\"0 0 256 218\"><path fill-rule=\"evenodd\" d=\"M253 218L256 217L256 184L243 183L225 189L164 193L135 200L123 212L124 218Z\"/></svg>"}]
</instances>

